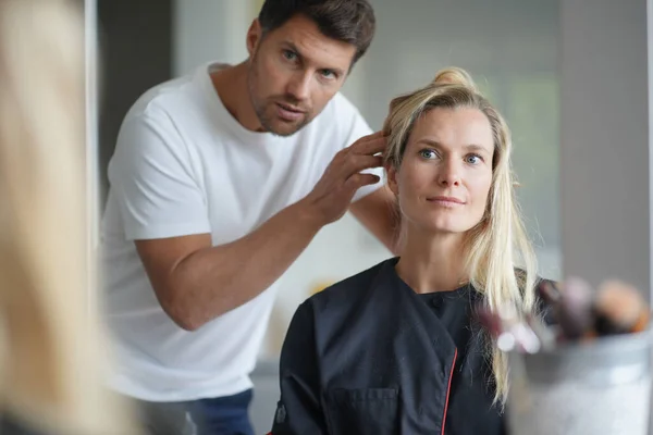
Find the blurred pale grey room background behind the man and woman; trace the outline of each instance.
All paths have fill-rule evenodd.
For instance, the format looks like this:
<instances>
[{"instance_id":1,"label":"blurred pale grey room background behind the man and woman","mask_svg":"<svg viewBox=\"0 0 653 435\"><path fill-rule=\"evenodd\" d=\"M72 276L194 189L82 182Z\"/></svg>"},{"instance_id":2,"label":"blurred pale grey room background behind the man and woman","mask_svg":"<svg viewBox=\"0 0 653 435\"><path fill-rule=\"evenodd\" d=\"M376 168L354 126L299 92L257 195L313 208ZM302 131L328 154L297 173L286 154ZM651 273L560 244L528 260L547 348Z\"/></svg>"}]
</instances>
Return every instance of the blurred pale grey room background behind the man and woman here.
<instances>
[{"instance_id":1,"label":"blurred pale grey room background behind the man and woman","mask_svg":"<svg viewBox=\"0 0 653 435\"><path fill-rule=\"evenodd\" d=\"M98 184L120 123L149 87L246 58L260 0L97 0ZM651 0L371 0L378 30L343 92L373 129L390 100L444 66L468 70L513 130L519 200L542 276L616 274L650 290ZM560 146L560 144L563 144ZM631 195L628 200L628 195ZM563 258L563 252L565 258ZM390 257L350 215L323 228L282 277L252 420L270 426L276 358L298 303ZM564 263L564 266L563 266Z\"/></svg>"}]
</instances>

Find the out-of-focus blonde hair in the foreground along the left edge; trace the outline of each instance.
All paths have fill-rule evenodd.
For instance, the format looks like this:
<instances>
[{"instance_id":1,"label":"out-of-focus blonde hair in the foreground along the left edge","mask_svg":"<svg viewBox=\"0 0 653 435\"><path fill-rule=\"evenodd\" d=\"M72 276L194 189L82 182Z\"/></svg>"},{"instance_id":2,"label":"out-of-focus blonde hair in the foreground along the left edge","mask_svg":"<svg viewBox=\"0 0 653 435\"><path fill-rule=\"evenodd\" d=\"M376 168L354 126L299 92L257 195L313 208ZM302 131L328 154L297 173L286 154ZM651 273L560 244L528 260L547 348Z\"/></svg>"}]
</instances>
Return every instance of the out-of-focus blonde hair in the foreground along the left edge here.
<instances>
[{"instance_id":1,"label":"out-of-focus blonde hair in the foreground along the left edge","mask_svg":"<svg viewBox=\"0 0 653 435\"><path fill-rule=\"evenodd\" d=\"M63 0L0 0L0 415L132 434L87 288L84 34Z\"/></svg>"}]
</instances>

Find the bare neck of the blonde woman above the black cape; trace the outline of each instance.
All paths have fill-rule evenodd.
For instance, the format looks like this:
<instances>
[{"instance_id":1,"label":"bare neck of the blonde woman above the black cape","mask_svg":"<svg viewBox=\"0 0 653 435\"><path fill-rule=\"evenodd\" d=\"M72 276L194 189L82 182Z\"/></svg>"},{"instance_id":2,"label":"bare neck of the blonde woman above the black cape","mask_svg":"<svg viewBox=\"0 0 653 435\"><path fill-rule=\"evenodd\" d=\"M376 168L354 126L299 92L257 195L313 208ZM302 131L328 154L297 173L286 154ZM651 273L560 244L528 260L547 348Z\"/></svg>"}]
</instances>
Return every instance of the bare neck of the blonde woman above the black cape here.
<instances>
[{"instance_id":1,"label":"bare neck of the blonde woman above the black cape","mask_svg":"<svg viewBox=\"0 0 653 435\"><path fill-rule=\"evenodd\" d=\"M408 231L397 274L416 293L451 291L467 282L461 234Z\"/></svg>"}]
</instances>

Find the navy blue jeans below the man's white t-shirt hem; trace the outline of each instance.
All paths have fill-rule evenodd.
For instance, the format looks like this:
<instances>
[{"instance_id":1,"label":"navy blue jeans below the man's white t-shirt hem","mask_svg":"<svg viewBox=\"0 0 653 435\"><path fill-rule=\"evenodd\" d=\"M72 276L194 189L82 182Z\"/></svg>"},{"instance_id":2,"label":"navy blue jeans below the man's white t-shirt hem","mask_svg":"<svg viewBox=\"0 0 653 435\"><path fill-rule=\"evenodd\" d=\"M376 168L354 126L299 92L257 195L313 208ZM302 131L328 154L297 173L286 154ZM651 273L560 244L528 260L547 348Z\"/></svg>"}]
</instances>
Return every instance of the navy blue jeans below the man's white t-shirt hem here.
<instances>
[{"instance_id":1,"label":"navy blue jeans below the man's white t-shirt hem","mask_svg":"<svg viewBox=\"0 0 653 435\"><path fill-rule=\"evenodd\" d=\"M189 402L197 435L254 435L248 414L252 396L248 389L234 396Z\"/></svg>"}]
</instances>

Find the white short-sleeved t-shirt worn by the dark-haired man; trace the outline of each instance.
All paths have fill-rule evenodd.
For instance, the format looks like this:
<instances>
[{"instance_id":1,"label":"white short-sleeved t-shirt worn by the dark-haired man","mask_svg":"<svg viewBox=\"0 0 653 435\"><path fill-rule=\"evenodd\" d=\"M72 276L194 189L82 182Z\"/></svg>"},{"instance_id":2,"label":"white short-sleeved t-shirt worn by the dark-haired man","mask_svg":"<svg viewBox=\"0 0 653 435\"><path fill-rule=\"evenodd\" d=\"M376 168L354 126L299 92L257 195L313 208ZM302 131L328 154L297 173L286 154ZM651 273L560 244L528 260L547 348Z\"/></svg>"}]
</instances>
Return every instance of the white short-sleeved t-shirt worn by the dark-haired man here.
<instances>
[{"instance_id":1,"label":"white short-sleeved t-shirt worn by the dark-haired man","mask_svg":"<svg viewBox=\"0 0 653 435\"><path fill-rule=\"evenodd\" d=\"M340 94L291 137L247 130L222 104L209 67L140 97L109 164L101 232L102 302L118 353L112 386L144 400L250 388L276 285L186 332L161 309L133 240L201 233L213 245L236 240L304 198L338 150L371 133ZM379 186L361 188L355 200Z\"/></svg>"}]
</instances>

